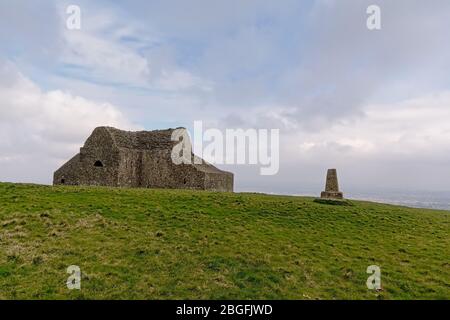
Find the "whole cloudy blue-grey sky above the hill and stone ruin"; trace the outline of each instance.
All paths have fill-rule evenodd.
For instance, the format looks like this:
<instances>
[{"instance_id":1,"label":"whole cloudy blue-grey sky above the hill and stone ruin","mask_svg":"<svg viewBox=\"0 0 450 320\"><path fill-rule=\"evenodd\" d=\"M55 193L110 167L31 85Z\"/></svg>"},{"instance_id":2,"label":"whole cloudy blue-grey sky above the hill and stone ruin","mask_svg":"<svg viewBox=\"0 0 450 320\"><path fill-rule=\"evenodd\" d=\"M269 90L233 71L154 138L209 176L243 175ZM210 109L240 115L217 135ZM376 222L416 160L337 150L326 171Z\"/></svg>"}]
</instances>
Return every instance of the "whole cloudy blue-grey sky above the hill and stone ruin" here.
<instances>
[{"instance_id":1,"label":"whole cloudy blue-grey sky above the hill and stone ruin","mask_svg":"<svg viewBox=\"0 0 450 320\"><path fill-rule=\"evenodd\" d=\"M237 191L448 191L449 30L448 0L0 0L0 181L50 184L96 126L202 120L280 129L277 175L221 166Z\"/></svg>"}]
</instances>

